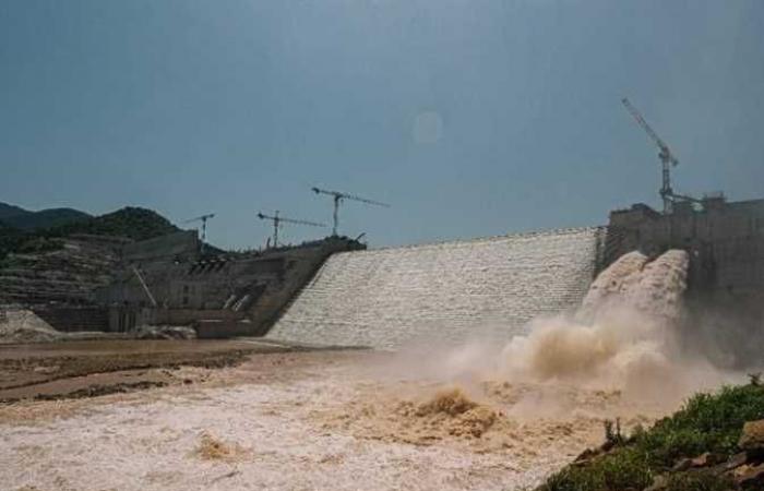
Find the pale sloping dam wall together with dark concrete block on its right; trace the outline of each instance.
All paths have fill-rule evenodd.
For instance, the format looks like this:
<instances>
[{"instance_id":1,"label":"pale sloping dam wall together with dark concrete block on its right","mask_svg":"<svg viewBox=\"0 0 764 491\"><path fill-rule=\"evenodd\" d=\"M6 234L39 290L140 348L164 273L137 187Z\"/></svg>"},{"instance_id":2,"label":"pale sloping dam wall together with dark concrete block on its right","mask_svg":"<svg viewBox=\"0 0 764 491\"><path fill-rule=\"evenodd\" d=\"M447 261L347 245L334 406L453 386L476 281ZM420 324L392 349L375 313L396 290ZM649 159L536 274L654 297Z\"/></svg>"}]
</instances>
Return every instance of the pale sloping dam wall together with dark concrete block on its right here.
<instances>
[{"instance_id":1,"label":"pale sloping dam wall together with dark concrete block on its right","mask_svg":"<svg viewBox=\"0 0 764 491\"><path fill-rule=\"evenodd\" d=\"M671 214L637 204L601 228L336 254L267 336L377 348L506 340L538 315L577 307L622 254L668 249L691 255L687 328L759 356L751 342L764 340L764 200L721 195L677 203Z\"/></svg>"}]
</instances>

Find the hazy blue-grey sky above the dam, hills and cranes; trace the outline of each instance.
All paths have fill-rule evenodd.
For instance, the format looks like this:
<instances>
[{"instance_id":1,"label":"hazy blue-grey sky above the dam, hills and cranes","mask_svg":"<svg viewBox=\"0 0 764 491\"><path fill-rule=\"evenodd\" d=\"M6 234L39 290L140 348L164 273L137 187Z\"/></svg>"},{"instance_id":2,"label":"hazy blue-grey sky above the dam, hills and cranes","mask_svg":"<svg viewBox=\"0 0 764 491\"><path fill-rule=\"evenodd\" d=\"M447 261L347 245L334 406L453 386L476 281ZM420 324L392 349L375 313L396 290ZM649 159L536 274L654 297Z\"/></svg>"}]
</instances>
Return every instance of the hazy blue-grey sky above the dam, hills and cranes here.
<instances>
[{"instance_id":1,"label":"hazy blue-grey sky above the dam, hills and cranes","mask_svg":"<svg viewBox=\"0 0 764 491\"><path fill-rule=\"evenodd\" d=\"M2 0L0 201L395 246L764 197L761 0ZM186 227L191 227L188 224ZM286 241L331 228L286 226Z\"/></svg>"}]
</instances>

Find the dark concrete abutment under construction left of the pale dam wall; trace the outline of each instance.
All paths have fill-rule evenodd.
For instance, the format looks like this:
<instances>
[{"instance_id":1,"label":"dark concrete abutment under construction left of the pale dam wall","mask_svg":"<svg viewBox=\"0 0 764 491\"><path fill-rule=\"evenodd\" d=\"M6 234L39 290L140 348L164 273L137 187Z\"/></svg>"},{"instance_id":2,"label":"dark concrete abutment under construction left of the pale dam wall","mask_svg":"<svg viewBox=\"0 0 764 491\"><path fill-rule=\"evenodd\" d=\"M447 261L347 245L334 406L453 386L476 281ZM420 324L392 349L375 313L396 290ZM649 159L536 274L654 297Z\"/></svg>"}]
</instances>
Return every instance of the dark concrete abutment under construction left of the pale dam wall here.
<instances>
[{"instance_id":1,"label":"dark concrete abutment under construction left of the pale dam wall","mask_svg":"<svg viewBox=\"0 0 764 491\"><path fill-rule=\"evenodd\" d=\"M126 251L117 279L98 292L102 304L110 309L110 331L170 324L198 325L205 337L264 334L326 258L365 248L332 237L298 247L202 258L199 242L181 233L131 244Z\"/></svg>"}]
</instances>

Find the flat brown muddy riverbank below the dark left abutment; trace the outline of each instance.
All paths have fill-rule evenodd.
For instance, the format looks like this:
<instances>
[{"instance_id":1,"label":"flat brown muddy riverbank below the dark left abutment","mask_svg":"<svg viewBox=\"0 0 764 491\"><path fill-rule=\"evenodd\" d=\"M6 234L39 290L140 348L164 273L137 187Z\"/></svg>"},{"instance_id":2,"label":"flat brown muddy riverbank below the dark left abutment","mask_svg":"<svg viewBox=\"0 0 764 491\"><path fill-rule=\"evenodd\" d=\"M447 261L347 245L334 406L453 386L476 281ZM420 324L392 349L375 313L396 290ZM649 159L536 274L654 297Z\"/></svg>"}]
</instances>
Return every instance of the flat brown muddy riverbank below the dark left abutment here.
<instances>
[{"instance_id":1,"label":"flat brown muddy riverbank below the dark left abutment","mask_svg":"<svg viewBox=\"0 0 764 491\"><path fill-rule=\"evenodd\" d=\"M69 340L0 346L0 403L89 397L193 383L178 369L215 369L297 347L258 340Z\"/></svg>"}]
</instances>

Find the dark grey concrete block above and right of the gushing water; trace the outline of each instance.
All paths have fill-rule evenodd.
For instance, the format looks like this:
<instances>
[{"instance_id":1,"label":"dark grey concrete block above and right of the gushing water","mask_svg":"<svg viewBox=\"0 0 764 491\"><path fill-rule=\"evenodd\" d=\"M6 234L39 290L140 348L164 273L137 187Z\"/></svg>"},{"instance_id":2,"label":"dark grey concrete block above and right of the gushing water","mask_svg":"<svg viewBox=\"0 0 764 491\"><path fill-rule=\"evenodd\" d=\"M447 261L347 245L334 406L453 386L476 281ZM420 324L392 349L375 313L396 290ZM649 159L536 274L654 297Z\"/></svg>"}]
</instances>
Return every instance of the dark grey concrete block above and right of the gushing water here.
<instances>
[{"instance_id":1,"label":"dark grey concrete block above and right of the gushing water","mask_svg":"<svg viewBox=\"0 0 764 491\"><path fill-rule=\"evenodd\" d=\"M691 324L719 333L718 343L732 332L749 342L764 332L764 200L719 195L678 203L669 215L644 204L610 214L604 265L635 249L658 254L670 248L691 254Z\"/></svg>"}]
</instances>

